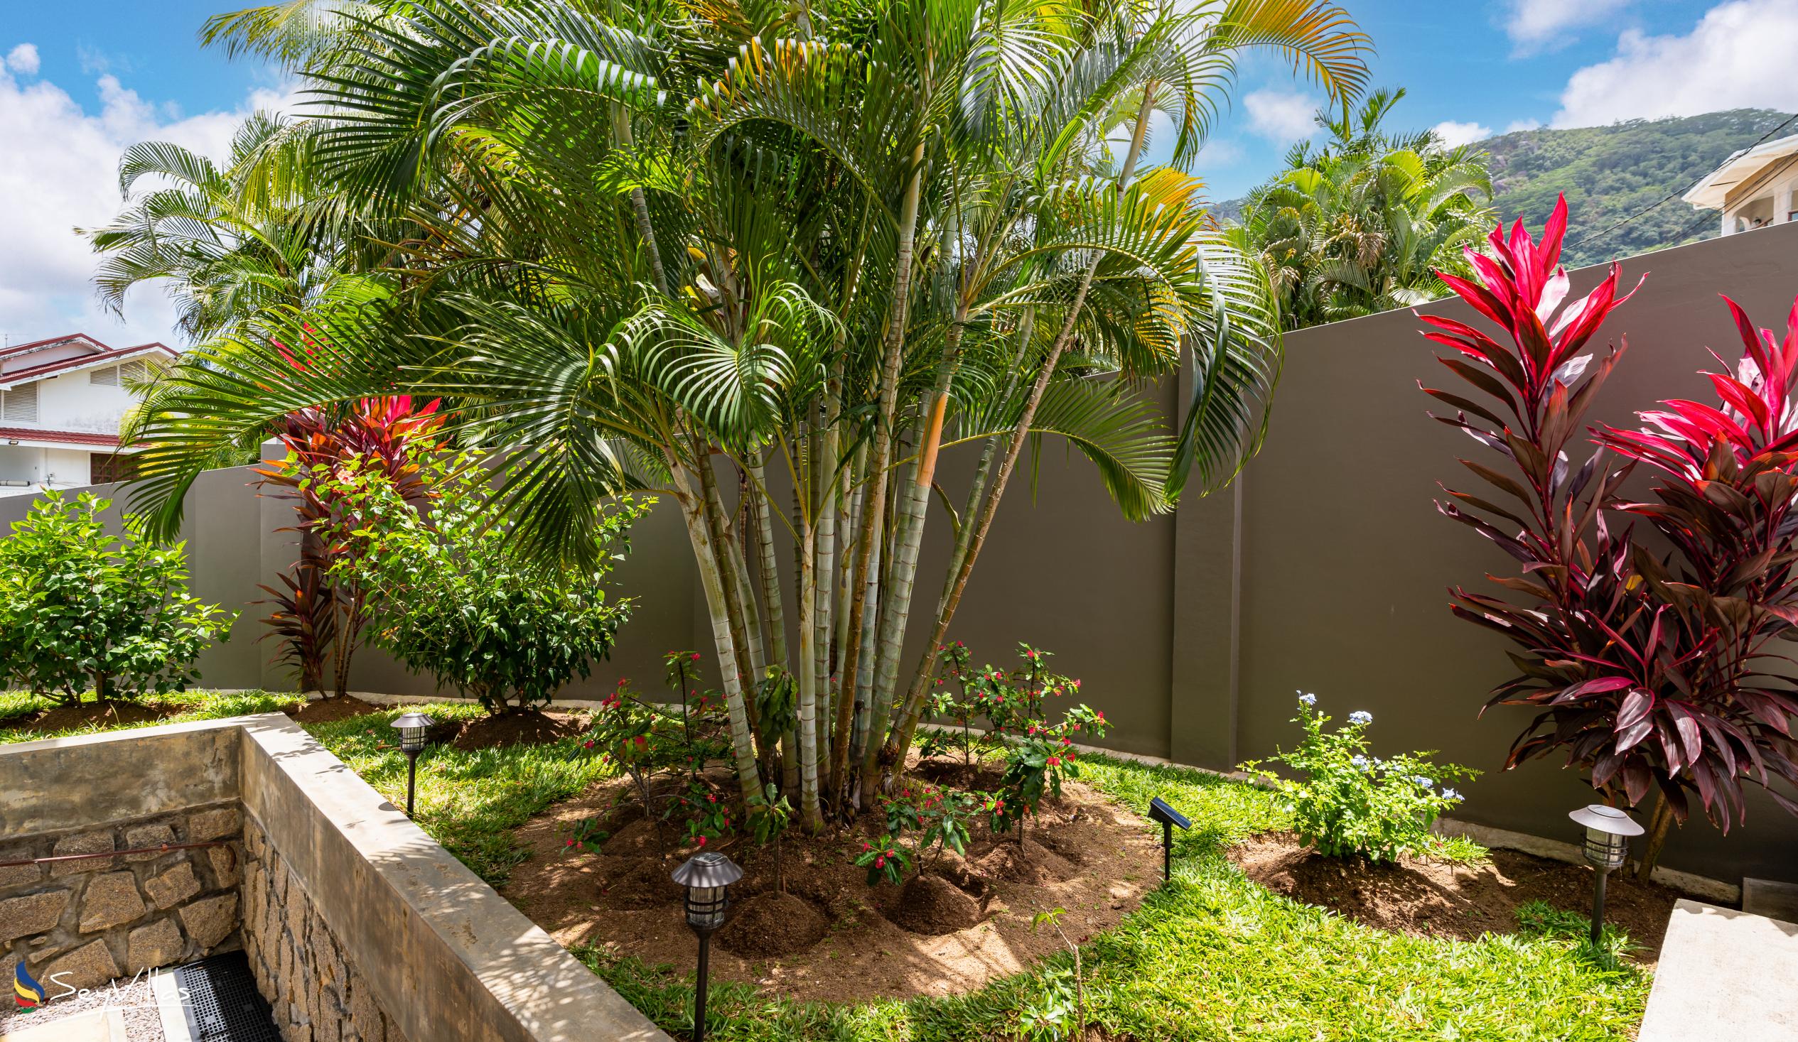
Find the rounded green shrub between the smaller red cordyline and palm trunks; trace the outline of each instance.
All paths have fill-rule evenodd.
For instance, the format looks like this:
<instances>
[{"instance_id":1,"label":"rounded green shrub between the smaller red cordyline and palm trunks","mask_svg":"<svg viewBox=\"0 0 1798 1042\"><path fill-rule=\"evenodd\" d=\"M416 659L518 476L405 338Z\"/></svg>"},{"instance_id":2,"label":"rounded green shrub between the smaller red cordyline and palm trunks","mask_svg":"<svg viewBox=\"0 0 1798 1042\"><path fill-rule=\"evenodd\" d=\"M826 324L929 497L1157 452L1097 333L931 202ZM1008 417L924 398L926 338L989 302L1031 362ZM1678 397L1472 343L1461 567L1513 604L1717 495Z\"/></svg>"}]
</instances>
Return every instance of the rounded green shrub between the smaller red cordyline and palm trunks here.
<instances>
[{"instance_id":1,"label":"rounded green shrub between the smaller red cordyline and palm trunks","mask_svg":"<svg viewBox=\"0 0 1798 1042\"><path fill-rule=\"evenodd\" d=\"M354 501L356 543L333 564L369 593L372 641L439 684L480 699L487 711L548 702L611 654L629 618L628 598L608 598L626 534L654 499L624 498L601 510L588 564L521 553L496 519L489 474L471 455L421 453L428 508L408 503L383 467L340 467L334 494Z\"/></svg>"}]
</instances>

